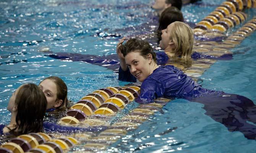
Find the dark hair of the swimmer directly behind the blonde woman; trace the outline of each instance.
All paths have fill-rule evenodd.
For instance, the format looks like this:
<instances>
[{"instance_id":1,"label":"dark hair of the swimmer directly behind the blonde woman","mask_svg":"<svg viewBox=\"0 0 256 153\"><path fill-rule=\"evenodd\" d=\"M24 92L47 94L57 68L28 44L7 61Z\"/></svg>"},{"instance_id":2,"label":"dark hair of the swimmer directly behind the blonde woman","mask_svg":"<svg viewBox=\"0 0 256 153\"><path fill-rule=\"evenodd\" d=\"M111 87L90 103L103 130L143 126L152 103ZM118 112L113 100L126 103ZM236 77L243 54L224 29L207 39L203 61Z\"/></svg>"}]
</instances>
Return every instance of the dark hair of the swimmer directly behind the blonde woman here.
<instances>
[{"instance_id":1,"label":"dark hair of the swimmer directly behind the blonde woman","mask_svg":"<svg viewBox=\"0 0 256 153\"><path fill-rule=\"evenodd\" d=\"M184 21L183 14L178 8L170 6L161 13L161 16L159 17L159 27L157 29L157 37L159 41L162 39L162 30L166 29L169 24L175 21Z\"/></svg>"}]
</instances>

